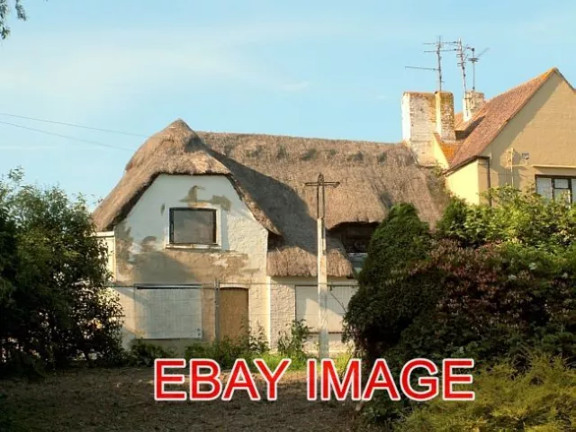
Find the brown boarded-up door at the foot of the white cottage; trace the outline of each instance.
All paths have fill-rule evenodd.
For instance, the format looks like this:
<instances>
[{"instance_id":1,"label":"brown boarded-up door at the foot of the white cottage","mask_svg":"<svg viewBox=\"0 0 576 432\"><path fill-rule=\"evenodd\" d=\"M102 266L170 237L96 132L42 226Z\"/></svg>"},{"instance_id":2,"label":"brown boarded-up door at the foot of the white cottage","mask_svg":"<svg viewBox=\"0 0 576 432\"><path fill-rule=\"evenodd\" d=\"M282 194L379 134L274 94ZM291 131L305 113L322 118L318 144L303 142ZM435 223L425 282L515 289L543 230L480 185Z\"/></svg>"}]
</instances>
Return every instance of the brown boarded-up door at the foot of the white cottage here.
<instances>
[{"instance_id":1,"label":"brown boarded-up door at the foot of the white cottage","mask_svg":"<svg viewBox=\"0 0 576 432\"><path fill-rule=\"evenodd\" d=\"M239 338L246 334L248 290L220 288L220 338Z\"/></svg>"}]
</instances>

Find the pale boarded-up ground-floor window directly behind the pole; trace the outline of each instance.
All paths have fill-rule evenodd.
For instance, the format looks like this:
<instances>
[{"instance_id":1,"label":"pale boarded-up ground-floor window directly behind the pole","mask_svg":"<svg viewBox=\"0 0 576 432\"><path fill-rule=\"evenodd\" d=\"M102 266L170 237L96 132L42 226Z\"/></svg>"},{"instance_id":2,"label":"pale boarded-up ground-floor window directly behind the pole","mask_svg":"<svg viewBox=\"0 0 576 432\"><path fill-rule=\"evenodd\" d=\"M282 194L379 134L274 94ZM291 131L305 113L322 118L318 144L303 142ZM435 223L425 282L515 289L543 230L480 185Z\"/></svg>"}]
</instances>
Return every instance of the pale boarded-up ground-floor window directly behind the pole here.
<instances>
[{"instance_id":1,"label":"pale boarded-up ground-floor window directly behind the pole","mask_svg":"<svg viewBox=\"0 0 576 432\"><path fill-rule=\"evenodd\" d=\"M342 332L342 318L346 313L350 298L356 293L356 286L329 287L328 294L328 331ZM319 325L318 287L296 286L296 320L305 320L311 331L318 331Z\"/></svg>"}]
</instances>

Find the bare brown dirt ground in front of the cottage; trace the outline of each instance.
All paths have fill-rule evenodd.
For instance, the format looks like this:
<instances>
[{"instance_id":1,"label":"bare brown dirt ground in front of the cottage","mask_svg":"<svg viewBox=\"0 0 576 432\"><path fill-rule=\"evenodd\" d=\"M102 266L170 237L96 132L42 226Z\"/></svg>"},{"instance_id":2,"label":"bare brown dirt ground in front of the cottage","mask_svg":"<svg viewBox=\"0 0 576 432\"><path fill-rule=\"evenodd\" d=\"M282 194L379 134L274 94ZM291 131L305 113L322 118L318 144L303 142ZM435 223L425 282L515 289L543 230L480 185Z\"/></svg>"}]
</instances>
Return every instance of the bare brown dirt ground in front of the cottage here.
<instances>
[{"instance_id":1,"label":"bare brown dirt ground in front of the cottage","mask_svg":"<svg viewBox=\"0 0 576 432\"><path fill-rule=\"evenodd\" d=\"M79 370L41 383L0 381L15 431L374 430L351 403L306 400L305 375L287 373L278 401L156 402L149 369ZM263 382L258 389L266 395ZM265 398L266 399L266 396ZM0 422L0 425L2 422Z\"/></svg>"}]
</instances>

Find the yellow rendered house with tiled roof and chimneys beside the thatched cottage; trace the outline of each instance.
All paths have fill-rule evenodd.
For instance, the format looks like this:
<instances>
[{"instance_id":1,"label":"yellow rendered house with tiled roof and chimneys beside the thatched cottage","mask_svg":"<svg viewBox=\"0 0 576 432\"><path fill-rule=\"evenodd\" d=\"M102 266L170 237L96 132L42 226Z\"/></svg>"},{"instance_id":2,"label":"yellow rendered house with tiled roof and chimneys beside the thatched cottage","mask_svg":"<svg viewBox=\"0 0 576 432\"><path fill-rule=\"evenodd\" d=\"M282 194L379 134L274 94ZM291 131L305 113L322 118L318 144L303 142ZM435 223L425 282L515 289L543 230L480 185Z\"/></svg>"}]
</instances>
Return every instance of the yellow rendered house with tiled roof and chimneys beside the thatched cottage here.
<instances>
[{"instance_id":1,"label":"yellow rendered house with tiled roof and chimneys beside the thatched cottage","mask_svg":"<svg viewBox=\"0 0 576 432\"><path fill-rule=\"evenodd\" d=\"M511 184L551 199L576 198L576 94L557 68L491 100L467 92L454 113L447 92L407 92L404 142L421 165L443 168L446 186L467 202Z\"/></svg>"}]
</instances>

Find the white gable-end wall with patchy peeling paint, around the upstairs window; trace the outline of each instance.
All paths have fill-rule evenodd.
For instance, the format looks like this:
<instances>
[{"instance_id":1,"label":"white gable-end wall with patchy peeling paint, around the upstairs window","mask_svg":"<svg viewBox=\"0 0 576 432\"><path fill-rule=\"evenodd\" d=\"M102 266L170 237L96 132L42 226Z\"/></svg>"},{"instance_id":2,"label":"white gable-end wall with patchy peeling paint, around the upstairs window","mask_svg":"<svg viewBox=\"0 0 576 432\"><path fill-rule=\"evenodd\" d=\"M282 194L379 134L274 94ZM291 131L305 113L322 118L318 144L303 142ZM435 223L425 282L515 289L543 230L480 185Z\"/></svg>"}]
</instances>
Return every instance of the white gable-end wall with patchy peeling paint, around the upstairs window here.
<instances>
[{"instance_id":1,"label":"white gable-end wall with patchy peeling paint, around the upstairs window","mask_svg":"<svg viewBox=\"0 0 576 432\"><path fill-rule=\"evenodd\" d=\"M195 202L191 202L194 188ZM212 208L217 210L218 247L202 249L171 247L169 209L171 207ZM183 314L175 308L174 292L143 295L134 284L211 284L215 278L229 286L249 287L250 325L261 325L269 332L268 289L266 279L267 230L255 219L238 193L223 175L159 175L140 196L129 214L115 227L116 284L125 311L125 344L130 338L197 338L197 317L190 317L189 334L176 329L174 320L159 319L157 314ZM241 263L238 265L238 263ZM121 288L122 287L122 288ZM148 296L152 295L150 293ZM183 293L188 297L191 292ZM148 302L148 306L141 304ZM150 301L166 304L154 306ZM180 303L194 303L192 297ZM171 305L171 307L168 307ZM147 309L148 308L148 309ZM146 310L153 313L155 328L146 321ZM194 312L195 313L195 312ZM187 315L194 315L192 311Z\"/></svg>"}]
</instances>

